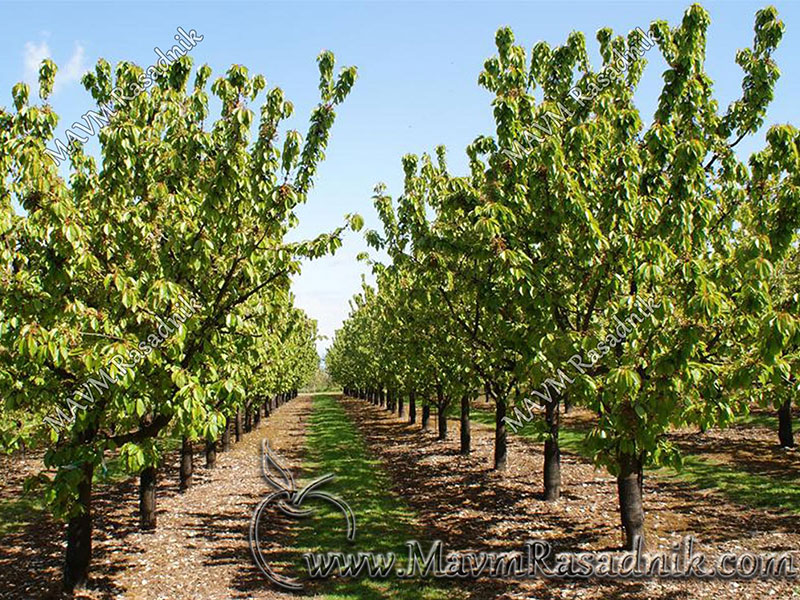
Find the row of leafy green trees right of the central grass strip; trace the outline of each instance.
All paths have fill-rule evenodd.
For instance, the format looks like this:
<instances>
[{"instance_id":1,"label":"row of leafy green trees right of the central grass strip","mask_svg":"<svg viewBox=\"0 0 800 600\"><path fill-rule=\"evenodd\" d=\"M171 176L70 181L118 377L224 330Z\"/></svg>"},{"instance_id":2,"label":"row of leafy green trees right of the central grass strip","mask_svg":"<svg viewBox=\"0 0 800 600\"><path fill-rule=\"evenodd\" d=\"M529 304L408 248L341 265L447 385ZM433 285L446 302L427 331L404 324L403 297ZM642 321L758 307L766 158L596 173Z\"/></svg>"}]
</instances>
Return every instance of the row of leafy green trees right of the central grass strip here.
<instances>
[{"instance_id":1,"label":"row of leafy green trees right of the central grass strip","mask_svg":"<svg viewBox=\"0 0 800 600\"><path fill-rule=\"evenodd\" d=\"M516 423L545 406L548 498L560 485L560 404L591 409L586 443L617 476L629 544L643 534L644 467L680 461L670 428L725 425L750 400L797 395L787 265L800 136L774 126L746 161L734 151L764 123L783 23L757 13L753 45L736 56L742 96L720 111L704 70L709 22L694 5L677 27L650 26L649 52L667 70L648 125L634 104L641 30L600 30L599 71L580 33L527 56L499 30L479 78L495 135L467 148L467 176L448 171L440 148L435 161L404 158L396 207L379 189L383 232L367 240L391 264L375 265L377 291L358 299L328 357L355 390L424 385L412 373L451 387L478 377L497 401L498 467L506 398Z\"/></svg>"}]
</instances>

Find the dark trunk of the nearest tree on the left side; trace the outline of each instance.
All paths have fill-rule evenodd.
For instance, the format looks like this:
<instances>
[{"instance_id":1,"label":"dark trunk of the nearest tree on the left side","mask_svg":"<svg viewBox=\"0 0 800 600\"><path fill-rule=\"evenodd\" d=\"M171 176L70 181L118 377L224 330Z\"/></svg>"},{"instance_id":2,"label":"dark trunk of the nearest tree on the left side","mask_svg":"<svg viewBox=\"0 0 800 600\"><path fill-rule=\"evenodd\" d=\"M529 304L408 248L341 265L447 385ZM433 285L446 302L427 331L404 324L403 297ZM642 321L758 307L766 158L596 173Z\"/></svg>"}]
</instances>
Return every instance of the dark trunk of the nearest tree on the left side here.
<instances>
[{"instance_id":1,"label":"dark trunk of the nearest tree on the left side","mask_svg":"<svg viewBox=\"0 0 800 600\"><path fill-rule=\"evenodd\" d=\"M78 505L82 512L67 524L67 552L64 563L64 590L68 593L83 589L89 581L89 562L92 559L92 476L94 466L83 463L78 483Z\"/></svg>"}]
</instances>

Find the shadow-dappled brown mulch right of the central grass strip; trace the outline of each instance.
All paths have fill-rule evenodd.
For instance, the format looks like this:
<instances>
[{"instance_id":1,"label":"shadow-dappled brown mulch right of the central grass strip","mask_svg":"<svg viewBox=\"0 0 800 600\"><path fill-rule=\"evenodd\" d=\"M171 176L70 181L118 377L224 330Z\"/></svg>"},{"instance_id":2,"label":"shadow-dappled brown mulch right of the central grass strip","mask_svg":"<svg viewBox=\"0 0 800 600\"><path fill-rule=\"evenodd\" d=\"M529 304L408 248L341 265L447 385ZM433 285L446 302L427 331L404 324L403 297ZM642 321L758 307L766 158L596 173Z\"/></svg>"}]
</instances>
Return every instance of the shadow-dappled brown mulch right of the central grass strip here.
<instances>
[{"instance_id":1,"label":"shadow-dappled brown mulch right of the central grass strip","mask_svg":"<svg viewBox=\"0 0 800 600\"><path fill-rule=\"evenodd\" d=\"M472 423L472 453L462 456L458 421L449 422L449 439L439 442L433 418L431 429L421 431L419 424L408 425L367 402L342 402L389 473L393 491L418 513L428 542L441 539L447 550L494 552L522 550L531 539L549 541L554 552L620 547L616 482L585 459L562 454L562 498L547 503L541 496L541 448L525 439L509 435L508 467L501 473L491 468L494 432L489 426ZM686 535L695 537L695 551L708 559L727 551L800 550L796 515L743 507L680 481L647 478L645 509L651 550L667 551ZM502 587L497 582L494 587L475 583L476 600L800 597L800 582L775 580L504 580Z\"/></svg>"}]
</instances>

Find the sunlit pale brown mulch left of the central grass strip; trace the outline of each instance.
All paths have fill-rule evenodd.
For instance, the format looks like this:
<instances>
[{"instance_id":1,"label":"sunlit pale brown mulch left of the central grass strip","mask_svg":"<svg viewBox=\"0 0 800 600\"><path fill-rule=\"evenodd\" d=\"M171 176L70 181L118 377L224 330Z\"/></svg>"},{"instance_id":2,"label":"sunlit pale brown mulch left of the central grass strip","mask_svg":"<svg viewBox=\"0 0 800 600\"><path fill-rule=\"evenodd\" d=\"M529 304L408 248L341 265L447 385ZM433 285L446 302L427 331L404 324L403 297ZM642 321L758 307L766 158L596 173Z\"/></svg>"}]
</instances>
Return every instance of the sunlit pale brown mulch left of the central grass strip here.
<instances>
[{"instance_id":1,"label":"sunlit pale brown mulch left of the central grass strip","mask_svg":"<svg viewBox=\"0 0 800 600\"><path fill-rule=\"evenodd\" d=\"M281 406L206 469L201 445L194 485L178 492L177 454L159 481L158 528L137 528L136 480L99 487L90 589L85 600L264 600L293 598L276 592L250 556L248 528L253 509L271 489L260 471L260 444L270 444L297 476L304 451L310 398ZM28 460L40 460L31 458ZM17 467L17 470L30 470ZM19 492L22 477L4 479L3 496ZM16 488L16 489L15 489ZM0 539L0 598L57 598L64 526L48 517Z\"/></svg>"}]
</instances>

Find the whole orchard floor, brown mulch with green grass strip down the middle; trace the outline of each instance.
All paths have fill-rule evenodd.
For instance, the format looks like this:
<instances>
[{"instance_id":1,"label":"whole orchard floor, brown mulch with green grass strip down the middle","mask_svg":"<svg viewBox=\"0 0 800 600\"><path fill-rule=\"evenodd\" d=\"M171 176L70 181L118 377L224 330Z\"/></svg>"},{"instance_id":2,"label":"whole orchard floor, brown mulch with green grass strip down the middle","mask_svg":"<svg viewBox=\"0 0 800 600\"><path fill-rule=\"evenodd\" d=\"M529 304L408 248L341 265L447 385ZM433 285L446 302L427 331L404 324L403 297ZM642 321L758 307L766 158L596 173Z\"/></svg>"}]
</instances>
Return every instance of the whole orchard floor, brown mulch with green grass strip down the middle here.
<instances>
[{"instance_id":1,"label":"whole orchard floor, brown mulch with green grass strip down the middle","mask_svg":"<svg viewBox=\"0 0 800 600\"><path fill-rule=\"evenodd\" d=\"M218 455L207 470L197 455L194 486L178 493L177 459L171 456L159 486L158 529L136 527L135 480L98 487L91 590L82 599L223 600L298 598L276 591L252 562L248 548L250 516L270 491L260 471L260 443L268 438L304 481L336 471L339 487L331 491L349 501L362 529L358 540L377 543L386 537L414 536L427 548L442 540L445 551L514 551L527 540L543 539L555 551L614 550L621 543L617 527L616 485L606 472L571 452L562 455L562 498L541 499L542 455L538 444L509 434L507 469L490 468L491 427L472 423L469 456L458 453L458 422L449 422L449 439L440 442L431 430L389 414L369 403L339 398L336 402L300 396L273 415L229 452ZM320 431L331 431L321 436ZM766 433L759 444L769 445ZM342 439L334 439L344 436ZM762 439L763 438L763 439ZM713 435L705 442L687 433L684 442L711 444L707 454L726 455L730 447ZM344 440L344 441L342 441ZM736 447L737 452L739 446ZM328 451L328 449L330 451ZM199 450L199 447L198 447ZM741 451L747 451L744 441ZM768 455L755 471L765 469ZM15 459L3 466L0 501L18 494L24 475L34 472L39 456ZM792 455L784 457L794 465ZM348 477L348 471L357 475ZM374 481L374 485L370 482ZM685 535L694 535L696 551L713 558L723 551L783 552L800 550L800 516L781 509L754 508L733 502L712 489L674 477L648 477L645 483L647 532L652 549L667 550ZM365 504L366 503L366 504ZM24 508L24 505L21 505ZM369 513L362 510L369 506ZM0 528L0 599L58 598L63 560L63 526L35 514L22 528ZM398 516L402 515L402 516ZM407 515L407 518L406 518ZM401 522L402 523L399 523ZM407 521L407 522L406 522ZM291 542L279 531L275 539ZM390 533L391 532L391 533ZM296 532L295 532L296 533ZM313 532L300 531L297 547L313 547ZM322 538L320 538L322 539ZM379 541L379 540L378 540ZM302 542L302 543L301 543ZM655 548L653 548L655 547ZM352 551L369 550L354 546ZM285 556L275 552L273 558ZM800 554L798 554L800 559ZM800 564L800 560L796 561ZM368 583L368 582L367 582ZM517 599L705 599L800 598L800 581L446 581L444 591L419 586L418 595L394 586L366 583L355 592L321 584L314 597L325 598L493 598ZM335 594L335 595L332 595Z\"/></svg>"}]
</instances>

